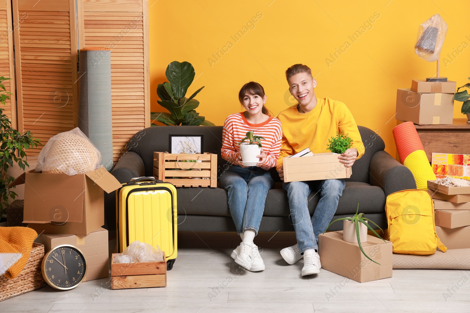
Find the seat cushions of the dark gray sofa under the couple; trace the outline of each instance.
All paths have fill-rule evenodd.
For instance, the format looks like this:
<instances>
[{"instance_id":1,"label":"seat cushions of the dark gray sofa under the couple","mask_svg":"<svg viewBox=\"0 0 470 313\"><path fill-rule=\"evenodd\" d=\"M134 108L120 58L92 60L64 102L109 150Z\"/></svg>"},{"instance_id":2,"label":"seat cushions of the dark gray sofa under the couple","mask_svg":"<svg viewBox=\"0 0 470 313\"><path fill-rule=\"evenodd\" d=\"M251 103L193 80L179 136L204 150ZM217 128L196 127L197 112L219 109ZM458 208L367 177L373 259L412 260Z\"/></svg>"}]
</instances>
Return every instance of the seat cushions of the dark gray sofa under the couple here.
<instances>
[{"instance_id":1,"label":"seat cushions of the dark gray sofa under the couple","mask_svg":"<svg viewBox=\"0 0 470 313\"><path fill-rule=\"evenodd\" d=\"M180 187L176 188L178 214L201 214L230 216L227 191L222 188ZM308 209L313 214L320 194L313 191L309 196ZM361 213L383 213L385 207L384 191L368 183L346 182L343 195L339 198L336 214L354 214L358 202ZM289 216L287 192L271 189L266 197L264 215Z\"/></svg>"}]
</instances>

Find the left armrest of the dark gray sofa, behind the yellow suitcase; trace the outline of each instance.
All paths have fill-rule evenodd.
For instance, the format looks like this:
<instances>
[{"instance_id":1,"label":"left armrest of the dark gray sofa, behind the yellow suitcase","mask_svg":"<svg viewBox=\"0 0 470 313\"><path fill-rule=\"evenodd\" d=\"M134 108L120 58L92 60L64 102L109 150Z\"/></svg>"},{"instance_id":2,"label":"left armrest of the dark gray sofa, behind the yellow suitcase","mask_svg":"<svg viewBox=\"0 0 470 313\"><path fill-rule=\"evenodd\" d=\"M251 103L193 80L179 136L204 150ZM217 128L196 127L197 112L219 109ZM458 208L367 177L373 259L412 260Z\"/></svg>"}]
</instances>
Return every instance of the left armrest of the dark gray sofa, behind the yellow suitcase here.
<instances>
[{"instance_id":1,"label":"left armrest of the dark gray sofa, behind the yellow suitcase","mask_svg":"<svg viewBox=\"0 0 470 313\"><path fill-rule=\"evenodd\" d=\"M119 183L128 183L133 177L145 176L144 162L139 154L127 151L114 166L111 174ZM104 215L108 230L116 229L116 191L105 193Z\"/></svg>"}]
</instances>

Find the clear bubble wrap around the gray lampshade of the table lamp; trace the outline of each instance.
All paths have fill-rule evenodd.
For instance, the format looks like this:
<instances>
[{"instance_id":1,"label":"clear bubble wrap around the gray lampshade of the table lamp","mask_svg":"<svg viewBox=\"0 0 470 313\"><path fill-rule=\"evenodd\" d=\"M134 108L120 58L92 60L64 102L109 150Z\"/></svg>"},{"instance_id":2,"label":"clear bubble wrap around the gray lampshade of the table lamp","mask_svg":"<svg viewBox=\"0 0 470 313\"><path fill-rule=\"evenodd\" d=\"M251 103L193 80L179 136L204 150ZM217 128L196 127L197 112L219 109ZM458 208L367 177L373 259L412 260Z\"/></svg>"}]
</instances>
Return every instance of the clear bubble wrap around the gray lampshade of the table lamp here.
<instances>
[{"instance_id":1,"label":"clear bubble wrap around the gray lampshade of the table lamp","mask_svg":"<svg viewBox=\"0 0 470 313\"><path fill-rule=\"evenodd\" d=\"M439 14L432 15L419 25L416 37L415 52L426 61L439 59L444 39L446 39L447 23Z\"/></svg>"}]
</instances>

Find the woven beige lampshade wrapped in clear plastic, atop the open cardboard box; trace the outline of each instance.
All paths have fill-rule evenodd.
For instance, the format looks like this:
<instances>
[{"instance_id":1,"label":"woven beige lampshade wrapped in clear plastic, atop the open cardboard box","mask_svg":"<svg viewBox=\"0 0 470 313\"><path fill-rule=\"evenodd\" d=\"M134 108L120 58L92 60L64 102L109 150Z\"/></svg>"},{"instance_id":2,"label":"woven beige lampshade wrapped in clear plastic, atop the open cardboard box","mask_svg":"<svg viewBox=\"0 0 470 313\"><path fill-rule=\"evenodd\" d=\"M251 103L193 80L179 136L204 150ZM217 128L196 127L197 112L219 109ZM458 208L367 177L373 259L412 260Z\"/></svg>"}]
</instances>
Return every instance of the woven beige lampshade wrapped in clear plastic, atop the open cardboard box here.
<instances>
[{"instance_id":1,"label":"woven beige lampshade wrapped in clear plastic, atop the open cardboard box","mask_svg":"<svg viewBox=\"0 0 470 313\"><path fill-rule=\"evenodd\" d=\"M47 141L38 156L36 172L84 174L101 167L101 153L77 127Z\"/></svg>"}]
</instances>

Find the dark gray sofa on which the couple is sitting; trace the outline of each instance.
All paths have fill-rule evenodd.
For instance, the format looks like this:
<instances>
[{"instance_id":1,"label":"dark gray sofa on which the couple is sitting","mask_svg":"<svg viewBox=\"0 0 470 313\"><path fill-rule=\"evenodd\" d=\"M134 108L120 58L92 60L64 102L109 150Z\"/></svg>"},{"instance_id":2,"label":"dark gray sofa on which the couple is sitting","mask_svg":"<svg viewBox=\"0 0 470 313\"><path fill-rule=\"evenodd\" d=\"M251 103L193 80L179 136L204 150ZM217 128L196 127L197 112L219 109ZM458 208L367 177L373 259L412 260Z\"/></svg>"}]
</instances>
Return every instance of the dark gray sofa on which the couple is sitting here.
<instances>
[{"instance_id":1,"label":"dark gray sofa on which the couple is sitting","mask_svg":"<svg viewBox=\"0 0 470 313\"><path fill-rule=\"evenodd\" d=\"M352 166L352 176L346 179L346 187L339 199L334 219L359 212L387 227L385 198L395 191L416 188L411 172L384 151L381 137L372 130L359 126L365 154ZM222 126L157 126L146 128L134 135L127 145L127 152L118 160L111 174L119 182L133 177L153 176L153 152L168 151L169 134L203 134L204 152L218 155L218 176L227 168L220 156ZM275 169L271 170L275 188L268 192L264 216L259 231L293 231L289 218L287 193ZM181 231L235 231L227 205L227 191L222 188L180 187L177 189L178 230ZM106 221L110 229L116 225L115 193L106 196ZM310 195L308 207L313 214L319 194ZM113 226L111 226L113 225ZM341 230L343 224L336 222L330 230Z\"/></svg>"}]
</instances>

